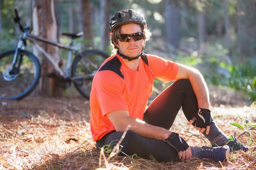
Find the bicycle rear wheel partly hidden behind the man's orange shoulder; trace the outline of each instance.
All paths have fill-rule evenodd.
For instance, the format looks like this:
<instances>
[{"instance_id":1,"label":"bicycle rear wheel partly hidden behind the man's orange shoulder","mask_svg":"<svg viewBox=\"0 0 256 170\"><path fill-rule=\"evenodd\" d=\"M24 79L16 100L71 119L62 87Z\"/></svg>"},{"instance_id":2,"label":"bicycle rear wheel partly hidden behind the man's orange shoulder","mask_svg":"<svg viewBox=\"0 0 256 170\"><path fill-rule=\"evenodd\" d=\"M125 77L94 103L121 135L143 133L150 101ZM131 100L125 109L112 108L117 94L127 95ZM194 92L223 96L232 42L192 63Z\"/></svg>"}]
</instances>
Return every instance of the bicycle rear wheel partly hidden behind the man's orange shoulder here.
<instances>
[{"instance_id":1,"label":"bicycle rear wheel partly hidden behind the man's orange shoulder","mask_svg":"<svg viewBox=\"0 0 256 170\"><path fill-rule=\"evenodd\" d=\"M76 89L82 96L89 99L94 74L98 71L102 62L110 56L98 50L87 50L81 52L81 54L83 57L76 56L73 61L71 75L72 79L75 79L73 82Z\"/></svg>"}]
</instances>

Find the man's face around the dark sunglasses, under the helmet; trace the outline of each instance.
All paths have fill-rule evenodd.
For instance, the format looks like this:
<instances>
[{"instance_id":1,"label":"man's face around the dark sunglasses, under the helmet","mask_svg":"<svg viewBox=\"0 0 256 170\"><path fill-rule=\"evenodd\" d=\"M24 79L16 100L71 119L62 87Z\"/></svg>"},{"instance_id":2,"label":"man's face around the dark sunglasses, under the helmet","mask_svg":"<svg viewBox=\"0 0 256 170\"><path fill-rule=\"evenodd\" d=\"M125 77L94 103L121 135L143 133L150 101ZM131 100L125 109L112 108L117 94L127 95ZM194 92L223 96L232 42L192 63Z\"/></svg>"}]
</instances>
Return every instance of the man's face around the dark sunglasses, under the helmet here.
<instances>
[{"instance_id":1,"label":"man's face around the dark sunglasses, under the helmet","mask_svg":"<svg viewBox=\"0 0 256 170\"><path fill-rule=\"evenodd\" d=\"M138 24L129 23L121 26L121 34L135 34L142 30ZM143 39L134 41L133 38L129 42L121 42L118 40L119 51L127 57L137 57L143 49Z\"/></svg>"}]
</instances>

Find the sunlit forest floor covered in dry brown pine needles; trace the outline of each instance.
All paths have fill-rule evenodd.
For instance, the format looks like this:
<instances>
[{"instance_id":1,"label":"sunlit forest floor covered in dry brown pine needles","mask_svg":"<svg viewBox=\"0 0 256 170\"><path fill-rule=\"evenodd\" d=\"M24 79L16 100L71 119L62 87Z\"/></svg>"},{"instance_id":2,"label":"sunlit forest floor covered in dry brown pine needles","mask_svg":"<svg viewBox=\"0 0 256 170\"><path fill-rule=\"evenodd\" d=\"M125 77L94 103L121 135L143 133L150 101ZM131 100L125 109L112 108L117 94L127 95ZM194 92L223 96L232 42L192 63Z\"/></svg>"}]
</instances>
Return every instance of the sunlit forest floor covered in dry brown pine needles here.
<instances>
[{"instance_id":1,"label":"sunlit forest floor covered in dry brown pine needles","mask_svg":"<svg viewBox=\"0 0 256 170\"><path fill-rule=\"evenodd\" d=\"M215 123L227 135L244 132L230 122L248 119L256 122L256 105L241 97L241 93L209 87L211 111ZM152 96L153 98L154 96ZM151 100L149 100L150 102ZM170 130L179 133L191 146L209 142L186 125L182 111ZM256 133L241 135L239 141L256 152ZM253 139L253 143L247 141ZM190 159L183 162L157 163L145 159L121 156L109 157L96 150L90 133L89 100L82 97L61 99L26 97L20 101L0 101L0 170L1 169L251 169L256 161L243 153L234 153L230 161L215 163L210 160Z\"/></svg>"}]
</instances>

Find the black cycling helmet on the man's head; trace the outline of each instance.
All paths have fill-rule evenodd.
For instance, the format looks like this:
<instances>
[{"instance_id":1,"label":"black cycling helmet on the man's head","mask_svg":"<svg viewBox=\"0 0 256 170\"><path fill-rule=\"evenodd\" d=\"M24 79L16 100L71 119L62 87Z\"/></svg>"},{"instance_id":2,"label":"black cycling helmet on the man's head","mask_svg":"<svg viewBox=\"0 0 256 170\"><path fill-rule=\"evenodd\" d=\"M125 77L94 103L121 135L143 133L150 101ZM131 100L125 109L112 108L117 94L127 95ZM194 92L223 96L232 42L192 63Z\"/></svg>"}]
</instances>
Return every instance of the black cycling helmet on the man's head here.
<instances>
[{"instance_id":1,"label":"black cycling helmet on the man's head","mask_svg":"<svg viewBox=\"0 0 256 170\"><path fill-rule=\"evenodd\" d=\"M136 15L133 9L125 9L122 11L118 11L115 15L113 15L109 22L108 31L111 34L113 32L113 29L117 26L121 26L128 23L138 23L140 25L143 25L144 28L147 28L147 23L142 15Z\"/></svg>"}]
</instances>

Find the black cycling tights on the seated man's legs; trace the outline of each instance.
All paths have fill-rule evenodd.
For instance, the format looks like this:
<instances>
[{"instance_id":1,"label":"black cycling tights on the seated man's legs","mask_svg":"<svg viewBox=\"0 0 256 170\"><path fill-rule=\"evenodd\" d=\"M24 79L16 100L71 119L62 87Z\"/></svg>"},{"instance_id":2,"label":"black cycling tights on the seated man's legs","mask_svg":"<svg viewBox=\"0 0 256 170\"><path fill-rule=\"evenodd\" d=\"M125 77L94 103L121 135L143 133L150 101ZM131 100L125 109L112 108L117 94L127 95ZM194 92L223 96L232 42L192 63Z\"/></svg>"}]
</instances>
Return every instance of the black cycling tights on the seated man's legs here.
<instances>
[{"instance_id":1,"label":"black cycling tights on the seated man's legs","mask_svg":"<svg viewBox=\"0 0 256 170\"><path fill-rule=\"evenodd\" d=\"M198 108L198 102L188 79L180 79L170 85L148 106L144 113L144 121L150 125L170 129L180 107L186 119L190 120ZM123 132L112 131L96 141L97 148L110 145L113 148L121 138ZM120 144L120 156L136 154L140 158L151 159L158 162L177 161L177 152L166 142L157 139L145 139L132 130L128 130ZM123 152L123 153L122 153ZM125 155L125 154L126 155Z\"/></svg>"}]
</instances>

